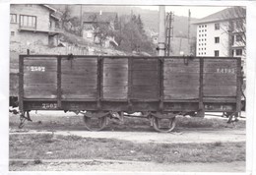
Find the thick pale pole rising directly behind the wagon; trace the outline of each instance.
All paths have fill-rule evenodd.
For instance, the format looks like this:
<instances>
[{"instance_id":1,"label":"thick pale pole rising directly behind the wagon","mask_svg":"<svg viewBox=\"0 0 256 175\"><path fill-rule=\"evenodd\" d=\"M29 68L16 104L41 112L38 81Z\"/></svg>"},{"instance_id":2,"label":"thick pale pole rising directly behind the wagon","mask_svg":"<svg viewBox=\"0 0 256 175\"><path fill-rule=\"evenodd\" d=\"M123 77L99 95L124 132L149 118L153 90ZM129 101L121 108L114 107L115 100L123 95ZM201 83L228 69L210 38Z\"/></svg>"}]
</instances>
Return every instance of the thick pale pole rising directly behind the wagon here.
<instances>
[{"instance_id":1,"label":"thick pale pole rising directly behind the wagon","mask_svg":"<svg viewBox=\"0 0 256 175\"><path fill-rule=\"evenodd\" d=\"M158 55L164 56L165 54L165 7L160 6L159 11L159 46L158 46Z\"/></svg>"}]
</instances>

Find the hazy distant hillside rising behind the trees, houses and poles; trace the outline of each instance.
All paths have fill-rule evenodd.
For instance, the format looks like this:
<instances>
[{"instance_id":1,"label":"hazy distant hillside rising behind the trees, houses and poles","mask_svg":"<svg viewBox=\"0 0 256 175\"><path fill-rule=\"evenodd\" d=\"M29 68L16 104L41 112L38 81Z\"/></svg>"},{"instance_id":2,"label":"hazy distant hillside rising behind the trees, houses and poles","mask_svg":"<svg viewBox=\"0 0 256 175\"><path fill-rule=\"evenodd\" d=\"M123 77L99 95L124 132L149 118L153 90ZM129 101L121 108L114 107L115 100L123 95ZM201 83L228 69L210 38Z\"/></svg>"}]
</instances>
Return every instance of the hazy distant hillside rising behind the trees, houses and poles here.
<instances>
[{"instance_id":1,"label":"hazy distant hillside rising behind the trees, houses and poles","mask_svg":"<svg viewBox=\"0 0 256 175\"><path fill-rule=\"evenodd\" d=\"M65 5L51 5L57 10L63 11L65 9ZM71 10L72 17L80 17L81 6L80 5L69 5ZM139 7L134 6L93 6L93 5L83 5L82 12L116 12L118 16L122 15L130 15L131 13L141 15L141 19L144 23L146 30L159 30L159 12L153 10L141 9ZM191 21L196 19L192 18ZM188 32L188 18L174 16L173 22L173 35L174 36L187 36ZM191 25L191 36L196 35L196 27Z\"/></svg>"}]
</instances>

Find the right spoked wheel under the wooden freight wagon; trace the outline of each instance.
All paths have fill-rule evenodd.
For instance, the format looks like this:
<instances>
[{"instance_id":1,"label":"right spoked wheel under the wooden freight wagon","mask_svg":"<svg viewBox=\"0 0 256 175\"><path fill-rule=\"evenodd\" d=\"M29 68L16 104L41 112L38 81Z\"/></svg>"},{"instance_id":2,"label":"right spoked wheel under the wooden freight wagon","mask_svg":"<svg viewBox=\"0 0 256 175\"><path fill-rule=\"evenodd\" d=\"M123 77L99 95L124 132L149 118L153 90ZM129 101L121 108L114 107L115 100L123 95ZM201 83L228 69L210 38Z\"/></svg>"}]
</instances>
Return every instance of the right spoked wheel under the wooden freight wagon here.
<instances>
[{"instance_id":1,"label":"right spoked wheel under the wooden freight wagon","mask_svg":"<svg viewBox=\"0 0 256 175\"><path fill-rule=\"evenodd\" d=\"M172 118L153 118L153 127L160 133L171 132L176 126L176 117Z\"/></svg>"}]
</instances>

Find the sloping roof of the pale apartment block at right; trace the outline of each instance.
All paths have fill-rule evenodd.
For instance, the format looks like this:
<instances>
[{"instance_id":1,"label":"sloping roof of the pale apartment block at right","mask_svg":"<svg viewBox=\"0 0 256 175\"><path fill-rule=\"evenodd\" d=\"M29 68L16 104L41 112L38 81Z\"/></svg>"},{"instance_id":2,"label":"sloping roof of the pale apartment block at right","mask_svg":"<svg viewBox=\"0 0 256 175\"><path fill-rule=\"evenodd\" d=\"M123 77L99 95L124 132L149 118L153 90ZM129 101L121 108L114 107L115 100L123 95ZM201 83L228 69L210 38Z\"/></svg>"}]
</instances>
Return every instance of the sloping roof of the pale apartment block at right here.
<instances>
[{"instance_id":1,"label":"sloping roof of the pale apartment block at right","mask_svg":"<svg viewBox=\"0 0 256 175\"><path fill-rule=\"evenodd\" d=\"M203 19L193 22L194 25L226 21L231 19L245 18L246 9L243 7L226 8L220 12L209 15Z\"/></svg>"}]
</instances>

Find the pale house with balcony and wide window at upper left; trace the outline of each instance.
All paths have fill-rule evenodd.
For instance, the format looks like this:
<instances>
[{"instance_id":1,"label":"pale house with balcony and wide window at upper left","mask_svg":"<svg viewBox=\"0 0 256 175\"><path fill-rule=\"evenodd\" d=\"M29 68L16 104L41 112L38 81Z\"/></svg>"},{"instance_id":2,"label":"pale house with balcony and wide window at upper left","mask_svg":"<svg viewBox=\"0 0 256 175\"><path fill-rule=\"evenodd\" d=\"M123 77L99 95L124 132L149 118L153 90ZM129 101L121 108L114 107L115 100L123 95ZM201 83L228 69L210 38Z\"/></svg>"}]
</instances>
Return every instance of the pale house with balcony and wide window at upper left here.
<instances>
[{"instance_id":1,"label":"pale house with balcony and wide window at upper left","mask_svg":"<svg viewBox=\"0 0 256 175\"><path fill-rule=\"evenodd\" d=\"M10 41L20 46L57 45L60 19L56 10L42 4L12 4Z\"/></svg>"}]
</instances>

